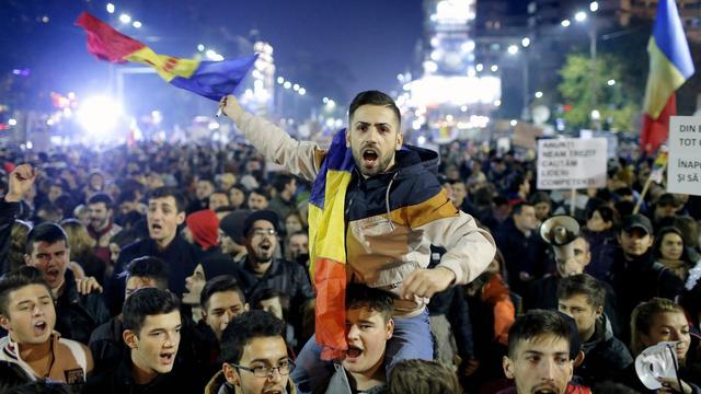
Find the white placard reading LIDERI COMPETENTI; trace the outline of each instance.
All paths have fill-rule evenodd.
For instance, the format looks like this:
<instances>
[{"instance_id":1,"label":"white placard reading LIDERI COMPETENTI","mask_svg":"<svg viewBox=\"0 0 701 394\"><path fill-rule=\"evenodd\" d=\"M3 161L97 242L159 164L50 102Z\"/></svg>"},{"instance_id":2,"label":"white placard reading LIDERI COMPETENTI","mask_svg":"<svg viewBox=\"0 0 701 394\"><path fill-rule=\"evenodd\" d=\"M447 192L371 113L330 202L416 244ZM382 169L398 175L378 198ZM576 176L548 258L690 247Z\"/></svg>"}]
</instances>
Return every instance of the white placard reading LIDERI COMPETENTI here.
<instances>
[{"instance_id":1,"label":"white placard reading LIDERI COMPETENTI","mask_svg":"<svg viewBox=\"0 0 701 394\"><path fill-rule=\"evenodd\" d=\"M538 140L538 189L606 186L606 139Z\"/></svg>"}]
</instances>

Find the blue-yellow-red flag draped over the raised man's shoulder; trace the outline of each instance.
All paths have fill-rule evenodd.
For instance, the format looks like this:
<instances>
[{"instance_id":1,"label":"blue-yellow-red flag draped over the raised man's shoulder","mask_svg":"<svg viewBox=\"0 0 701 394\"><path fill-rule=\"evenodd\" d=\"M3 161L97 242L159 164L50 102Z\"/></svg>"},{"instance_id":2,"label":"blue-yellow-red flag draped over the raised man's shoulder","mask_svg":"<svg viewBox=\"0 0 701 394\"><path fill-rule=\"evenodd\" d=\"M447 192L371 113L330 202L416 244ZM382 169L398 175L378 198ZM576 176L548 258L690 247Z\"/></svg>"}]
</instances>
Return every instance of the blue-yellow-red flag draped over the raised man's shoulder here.
<instances>
[{"instance_id":1,"label":"blue-yellow-red flag draped over the raised man's shoulder","mask_svg":"<svg viewBox=\"0 0 701 394\"><path fill-rule=\"evenodd\" d=\"M317 289L317 344L324 360L347 350L344 206L354 162L345 136L345 129L334 135L309 197L309 270Z\"/></svg>"}]
</instances>

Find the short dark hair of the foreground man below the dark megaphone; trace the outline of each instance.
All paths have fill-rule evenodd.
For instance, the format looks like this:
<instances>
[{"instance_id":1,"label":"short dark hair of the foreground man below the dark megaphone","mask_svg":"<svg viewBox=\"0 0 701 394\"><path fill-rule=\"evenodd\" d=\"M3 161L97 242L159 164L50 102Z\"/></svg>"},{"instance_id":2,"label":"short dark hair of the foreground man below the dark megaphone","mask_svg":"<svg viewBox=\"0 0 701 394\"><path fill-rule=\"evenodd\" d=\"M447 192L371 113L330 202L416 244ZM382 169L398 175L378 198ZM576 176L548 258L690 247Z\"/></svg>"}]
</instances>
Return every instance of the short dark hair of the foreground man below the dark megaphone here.
<instances>
[{"instance_id":1,"label":"short dark hair of the foreground man below the dark megaphone","mask_svg":"<svg viewBox=\"0 0 701 394\"><path fill-rule=\"evenodd\" d=\"M542 335L554 335L567 341L570 346L570 323L555 311L531 310L516 318L508 331L508 357L514 359L516 347Z\"/></svg>"}]
</instances>

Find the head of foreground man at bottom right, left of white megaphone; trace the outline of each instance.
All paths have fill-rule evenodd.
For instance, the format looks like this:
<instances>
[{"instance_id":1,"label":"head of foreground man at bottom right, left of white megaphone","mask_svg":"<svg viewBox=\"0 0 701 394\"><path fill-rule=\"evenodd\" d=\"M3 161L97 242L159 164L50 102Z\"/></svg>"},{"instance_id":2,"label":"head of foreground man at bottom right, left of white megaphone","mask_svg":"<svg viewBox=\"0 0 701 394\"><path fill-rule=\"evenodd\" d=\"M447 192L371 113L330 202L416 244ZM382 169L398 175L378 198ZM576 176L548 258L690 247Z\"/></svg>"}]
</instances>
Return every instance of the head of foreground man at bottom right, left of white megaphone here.
<instances>
[{"instance_id":1,"label":"head of foreground man at bottom right, left of white megaphone","mask_svg":"<svg viewBox=\"0 0 701 394\"><path fill-rule=\"evenodd\" d=\"M519 316L508 333L504 374L517 394L565 394L573 375L571 325L558 312L535 310ZM506 390L502 393L514 393Z\"/></svg>"}]
</instances>

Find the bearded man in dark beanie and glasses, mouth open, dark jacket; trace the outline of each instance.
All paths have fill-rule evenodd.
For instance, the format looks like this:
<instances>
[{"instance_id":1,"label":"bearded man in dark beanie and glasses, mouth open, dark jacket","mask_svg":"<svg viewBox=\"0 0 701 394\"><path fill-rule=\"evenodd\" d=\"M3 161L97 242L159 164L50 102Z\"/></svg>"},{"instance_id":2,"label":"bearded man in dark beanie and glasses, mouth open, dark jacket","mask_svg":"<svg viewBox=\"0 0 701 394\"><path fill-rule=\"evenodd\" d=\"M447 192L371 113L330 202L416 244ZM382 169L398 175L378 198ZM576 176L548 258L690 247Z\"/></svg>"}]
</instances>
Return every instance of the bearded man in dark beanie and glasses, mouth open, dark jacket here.
<instances>
[{"instance_id":1,"label":"bearded man in dark beanie and glasses, mouth open, dark jacket","mask_svg":"<svg viewBox=\"0 0 701 394\"><path fill-rule=\"evenodd\" d=\"M245 219L243 234L248 255L239 262L239 285L246 299L261 289L274 289L287 294L290 305L296 305L291 315L299 316L307 302L314 298L314 292L302 266L275 258L278 230L279 218L272 210L254 211Z\"/></svg>"}]
</instances>

